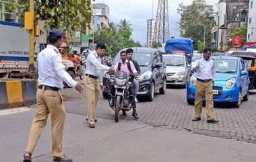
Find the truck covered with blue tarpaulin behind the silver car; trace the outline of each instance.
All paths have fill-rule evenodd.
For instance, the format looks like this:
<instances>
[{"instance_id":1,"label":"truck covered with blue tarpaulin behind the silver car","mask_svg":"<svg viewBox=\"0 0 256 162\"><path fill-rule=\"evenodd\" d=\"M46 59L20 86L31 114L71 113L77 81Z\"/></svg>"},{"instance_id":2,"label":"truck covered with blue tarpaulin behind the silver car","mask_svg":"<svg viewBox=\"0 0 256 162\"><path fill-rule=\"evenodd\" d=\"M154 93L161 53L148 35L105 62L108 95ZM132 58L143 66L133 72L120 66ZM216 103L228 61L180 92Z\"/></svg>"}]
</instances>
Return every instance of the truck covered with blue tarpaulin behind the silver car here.
<instances>
[{"instance_id":1,"label":"truck covered with blue tarpaulin behind the silver car","mask_svg":"<svg viewBox=\"0 0 256 162\"><path fill-rule=\"evenodd\" d=\"M187 56L189 65L192 63L194 41L191 38L171 38L164 46L166 54L180 54Z\"/></svg>"}]
</instances>

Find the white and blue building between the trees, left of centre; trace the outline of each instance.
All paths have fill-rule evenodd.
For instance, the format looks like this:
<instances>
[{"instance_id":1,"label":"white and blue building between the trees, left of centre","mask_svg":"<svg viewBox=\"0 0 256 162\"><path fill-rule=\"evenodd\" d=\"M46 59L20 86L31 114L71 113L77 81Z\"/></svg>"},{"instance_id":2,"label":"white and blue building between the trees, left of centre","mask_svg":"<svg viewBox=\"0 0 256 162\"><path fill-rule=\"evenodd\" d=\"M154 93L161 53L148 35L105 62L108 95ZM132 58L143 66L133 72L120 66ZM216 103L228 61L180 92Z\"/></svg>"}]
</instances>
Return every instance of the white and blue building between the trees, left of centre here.
<instances>
[{"instance_id":1,"label":"white and blue building between the trees, left of centre","mask_svg":"<svg viewBox=\"0 0 256 162\"><path fill-rule=\"evenodd\" d=\"M109 22L109 7L104 3L95 3L93 10L93 29L94 32L99 32L105 26L108 26Z\"/></svg>"}]
</instances>

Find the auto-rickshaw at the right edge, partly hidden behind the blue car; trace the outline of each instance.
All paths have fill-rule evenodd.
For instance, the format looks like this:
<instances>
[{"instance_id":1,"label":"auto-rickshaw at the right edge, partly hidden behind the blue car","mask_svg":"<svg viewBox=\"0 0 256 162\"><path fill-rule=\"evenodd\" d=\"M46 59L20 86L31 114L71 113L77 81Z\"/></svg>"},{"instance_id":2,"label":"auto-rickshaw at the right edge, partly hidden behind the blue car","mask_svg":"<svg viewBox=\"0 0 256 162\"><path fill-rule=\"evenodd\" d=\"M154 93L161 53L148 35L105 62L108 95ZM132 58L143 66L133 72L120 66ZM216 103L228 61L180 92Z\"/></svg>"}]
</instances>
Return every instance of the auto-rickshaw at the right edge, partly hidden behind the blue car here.
<instances>
[{"instance_id":1,"label":"auto-rickshaw at the right edge, partly hidden behind the blue car","mask_svg":"<svg viewBox=\"0 0 256 162\"><path fill-rule=\"evenodd\" d=\"M247 52L247 51L239 50L239 51L228 52L226 55L243 58L245 62L245 67L247 67L248 73L249 73L249 79L250 79L249 89L255 89L256 88L256 52Z\"/></svg>"}]
</instances>

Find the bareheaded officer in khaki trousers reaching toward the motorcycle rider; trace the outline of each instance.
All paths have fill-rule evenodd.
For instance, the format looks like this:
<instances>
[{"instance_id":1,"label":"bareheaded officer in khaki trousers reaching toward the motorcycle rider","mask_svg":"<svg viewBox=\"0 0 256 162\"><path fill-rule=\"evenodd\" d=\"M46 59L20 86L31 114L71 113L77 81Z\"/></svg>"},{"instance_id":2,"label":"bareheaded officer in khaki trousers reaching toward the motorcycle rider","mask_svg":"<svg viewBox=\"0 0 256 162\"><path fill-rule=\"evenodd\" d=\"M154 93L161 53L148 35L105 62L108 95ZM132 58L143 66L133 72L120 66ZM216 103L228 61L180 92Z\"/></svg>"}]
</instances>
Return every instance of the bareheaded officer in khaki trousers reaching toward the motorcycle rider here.
<instances>
[{"instance_id":1,"label":"bareheaded officer in khaki trousers reaching toward the motorcycle rider","mask_svg":"<svg viewBox=\"0 0 256 162\"><path fill-rule=\"evenodd\" d=\"M103 71L114 73L114 68L102 65L101 56L106 50L104 43L100 42L96 45L96 49L88 54L86 60L86 77L84 79L86 99L87 99L87 118L90 128L95 128L95 109L98 103L100 89L103 91L102 74Z\"/></svg>"}]
</instances>

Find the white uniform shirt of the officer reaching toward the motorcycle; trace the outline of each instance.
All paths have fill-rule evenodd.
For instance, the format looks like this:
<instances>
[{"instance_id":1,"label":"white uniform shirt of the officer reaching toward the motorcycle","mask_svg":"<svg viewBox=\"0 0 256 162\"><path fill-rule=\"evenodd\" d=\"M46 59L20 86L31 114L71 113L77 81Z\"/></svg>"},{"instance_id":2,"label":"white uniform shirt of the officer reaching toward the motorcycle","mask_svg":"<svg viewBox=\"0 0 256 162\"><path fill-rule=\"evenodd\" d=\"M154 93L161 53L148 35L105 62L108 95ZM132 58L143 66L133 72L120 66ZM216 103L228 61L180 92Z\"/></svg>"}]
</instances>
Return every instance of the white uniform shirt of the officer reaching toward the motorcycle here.
<instances>
[{"instance_id":1,"label":"white uniform shirt of the officer reaching toward the motorcycle","mask_svg":"<svg viewBox=\"0 0 256 162\"><path fill-rule=\"evenodd\" d=\"M93 52L90 52L90 54L88 54L86 59L86 74L99 77L100 85L103 85L102 83L103 71L108 71L109 69L110 67L106 67L105 65L102 65L101 58L100 56L98 56L95 50Z\"/></svg>"}]
</instances>

